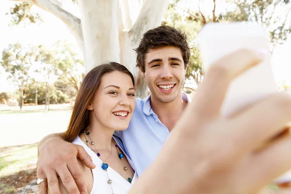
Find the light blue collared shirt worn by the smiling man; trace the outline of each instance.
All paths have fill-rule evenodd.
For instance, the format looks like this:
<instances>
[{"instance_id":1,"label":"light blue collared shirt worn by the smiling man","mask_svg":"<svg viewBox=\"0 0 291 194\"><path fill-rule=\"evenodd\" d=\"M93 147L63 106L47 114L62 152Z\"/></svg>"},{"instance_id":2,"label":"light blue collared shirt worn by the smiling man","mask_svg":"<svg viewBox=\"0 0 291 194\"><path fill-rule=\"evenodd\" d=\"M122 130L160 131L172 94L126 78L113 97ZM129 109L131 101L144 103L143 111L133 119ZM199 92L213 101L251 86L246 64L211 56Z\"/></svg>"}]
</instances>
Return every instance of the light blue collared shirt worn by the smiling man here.
<instances>
[{"instance_id":1,"label":"light blue collared shirt worn by the smiling man","mask_svg":"<svg viewBox=\"0 0 291 194\"><path fill-rule=\"evenodd\" d=\"M182 97L189 101L186 93L182 93ZM170 132L151 109L148 96L145 99L135 99L135 110L128 129L115 131L115 134L122 140L137 175L141 176L158 156Z\"/></svg>"}]
</instances>

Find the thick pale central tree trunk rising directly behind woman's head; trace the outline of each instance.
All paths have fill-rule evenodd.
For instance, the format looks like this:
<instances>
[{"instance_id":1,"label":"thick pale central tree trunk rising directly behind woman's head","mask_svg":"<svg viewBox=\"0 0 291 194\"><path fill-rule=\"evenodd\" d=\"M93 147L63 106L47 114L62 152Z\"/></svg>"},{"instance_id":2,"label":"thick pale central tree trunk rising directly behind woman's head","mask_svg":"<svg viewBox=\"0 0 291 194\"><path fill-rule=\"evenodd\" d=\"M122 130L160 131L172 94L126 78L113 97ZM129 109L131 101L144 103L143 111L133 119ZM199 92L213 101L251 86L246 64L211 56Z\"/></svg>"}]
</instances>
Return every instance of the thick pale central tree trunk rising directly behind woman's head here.
<instances>
[{"instance_id":1,"label":"thick pale central tree trunk rising directly behind woman's head","mask_svg":"<svg viewBox=\"0 0 291 194\"><path fill-rule=\"evenodd\" d=\"M117 0L78 0L85 46L85 70L120 63Z\"/></svg>"}]
</instances>

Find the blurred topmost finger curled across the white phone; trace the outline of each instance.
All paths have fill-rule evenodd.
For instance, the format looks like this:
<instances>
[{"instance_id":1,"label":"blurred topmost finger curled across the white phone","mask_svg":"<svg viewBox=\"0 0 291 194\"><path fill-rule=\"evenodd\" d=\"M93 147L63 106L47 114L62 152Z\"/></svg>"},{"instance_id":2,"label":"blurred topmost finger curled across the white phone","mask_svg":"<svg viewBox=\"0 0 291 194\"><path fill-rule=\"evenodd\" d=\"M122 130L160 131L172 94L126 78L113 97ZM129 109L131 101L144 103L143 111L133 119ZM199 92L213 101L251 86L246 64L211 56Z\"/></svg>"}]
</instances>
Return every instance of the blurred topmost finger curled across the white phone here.
<instances>
[{"instance_id":1,"label":"blurred topmost finger curled across the white phone","mask_svg":"<svg viewBox=\"0 0 291 194\"><path fill-rule=\"evenodd\" d=\"M263 55L242 49L211 65L193 99L193 106L199 115L201 117L219 115L230 82L262 60Z\"/></svg>"}]
</instances>

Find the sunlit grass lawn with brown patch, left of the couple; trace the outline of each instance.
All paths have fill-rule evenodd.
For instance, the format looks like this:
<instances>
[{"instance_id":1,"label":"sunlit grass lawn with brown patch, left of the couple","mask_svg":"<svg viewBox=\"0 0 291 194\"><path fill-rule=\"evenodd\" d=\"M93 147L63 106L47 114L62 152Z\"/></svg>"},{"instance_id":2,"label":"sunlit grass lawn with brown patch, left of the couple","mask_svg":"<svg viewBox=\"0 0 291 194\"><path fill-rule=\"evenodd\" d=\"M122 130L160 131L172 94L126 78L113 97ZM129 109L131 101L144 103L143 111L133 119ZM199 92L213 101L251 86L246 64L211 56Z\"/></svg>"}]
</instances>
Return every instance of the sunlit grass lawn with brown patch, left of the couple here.
<instances>
[{"instance_id":1,"label":"sunlit grass lawn with brown patch, left of the couple","mask_svg":"<svg viewBox=\"0 0 291 194\"><path fill-rule=\"evenodd\" d=\"M36 178L37 143L65 131L71 115L69 105L8 108L0 107L0 194L15 194Z\"/></svg>"}]
</instances>

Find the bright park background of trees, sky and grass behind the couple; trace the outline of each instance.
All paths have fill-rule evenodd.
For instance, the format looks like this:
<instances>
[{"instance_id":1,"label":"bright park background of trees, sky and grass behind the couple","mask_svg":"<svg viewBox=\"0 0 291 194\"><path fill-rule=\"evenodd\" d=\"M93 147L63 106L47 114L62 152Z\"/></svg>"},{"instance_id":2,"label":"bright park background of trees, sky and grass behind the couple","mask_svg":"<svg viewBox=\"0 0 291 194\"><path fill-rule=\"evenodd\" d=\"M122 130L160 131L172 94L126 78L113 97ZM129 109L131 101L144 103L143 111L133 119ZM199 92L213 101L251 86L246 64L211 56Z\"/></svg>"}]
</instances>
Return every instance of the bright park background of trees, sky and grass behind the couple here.
<instances>
[{"instance_id":1,"label":"bright park background of trees, sky and grass behind the couple","mask_svg":"<svg viewBox=\"0 0 291 194\"><path fill-rule=\"evenodd\" d=\"M138 97L146 97L132 49L157 26L187 33L193 49L183 90L192 94L204 74L200 29L257 22L269 38L278 90L290 92L290 12L289 0L1 0L0 194L36 193L37 143L65 131L82 78L94 65L126 65Z\"/></svg>"}]
</instances>

